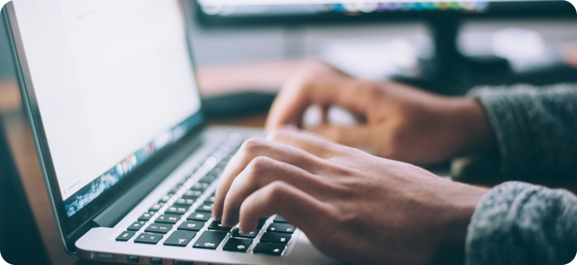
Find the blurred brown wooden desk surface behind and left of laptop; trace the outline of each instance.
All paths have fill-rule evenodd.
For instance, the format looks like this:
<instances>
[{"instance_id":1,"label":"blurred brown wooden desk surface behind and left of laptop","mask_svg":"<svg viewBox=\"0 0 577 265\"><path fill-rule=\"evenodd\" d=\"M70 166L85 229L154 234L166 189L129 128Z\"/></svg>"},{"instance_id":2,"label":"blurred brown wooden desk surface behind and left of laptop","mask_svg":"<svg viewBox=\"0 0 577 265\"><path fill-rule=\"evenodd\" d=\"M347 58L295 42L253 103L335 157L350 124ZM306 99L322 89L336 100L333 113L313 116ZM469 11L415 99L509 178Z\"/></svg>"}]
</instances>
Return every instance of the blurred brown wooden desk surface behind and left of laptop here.
<instances>
[{"instance_id":1,"label":"blurred brown wooden desk surface behind and left of laptop","mask_svg":"<svg viewBox=\"0 0 577 265\"><path fill-rule=\"evenodd\" d=\"M228 65L198 69L198 82L203 96L214 96L238 91L239 88L250 90L278 90L286 77L299 64L298 60L287 62L263 62L246 65ZM267 73L267 74L264 74ZM222 78L222 77L227 78ZM22 107L20 91L16 81L0 81L0 113L4 120L6 136L23 181L24 190L32 208L36 225L43 240L46 256L51 264L110 264L80 260L68 255L58 239L50 203L32 133ZM219 120L210 122L214 125L234 125L263 127L266 113L241 119Z\"/></svg>"}]
</instances>

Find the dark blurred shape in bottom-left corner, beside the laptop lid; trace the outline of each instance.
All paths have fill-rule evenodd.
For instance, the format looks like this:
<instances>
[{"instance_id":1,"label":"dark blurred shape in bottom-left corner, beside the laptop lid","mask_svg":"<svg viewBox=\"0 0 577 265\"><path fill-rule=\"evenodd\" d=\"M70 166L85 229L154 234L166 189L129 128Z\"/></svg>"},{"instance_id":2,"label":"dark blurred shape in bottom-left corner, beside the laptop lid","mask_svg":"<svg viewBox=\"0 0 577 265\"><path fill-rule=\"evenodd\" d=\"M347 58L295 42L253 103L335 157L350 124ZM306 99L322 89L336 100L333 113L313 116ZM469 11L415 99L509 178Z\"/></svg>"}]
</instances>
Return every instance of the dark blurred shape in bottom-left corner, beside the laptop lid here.
<instances>
[{"instance_id":1,"label":"dark blurred shape in bottom-left corner, beside the laptop lid","mask_svg":"<svg viewBox=\"0 0 577 265\"><path fill-rule=\"evenodd\" d=\"M40 176L39 176L39 180ZM9 264L47 264L0 118L0 255Z\"/></svg>"}]
</instances>

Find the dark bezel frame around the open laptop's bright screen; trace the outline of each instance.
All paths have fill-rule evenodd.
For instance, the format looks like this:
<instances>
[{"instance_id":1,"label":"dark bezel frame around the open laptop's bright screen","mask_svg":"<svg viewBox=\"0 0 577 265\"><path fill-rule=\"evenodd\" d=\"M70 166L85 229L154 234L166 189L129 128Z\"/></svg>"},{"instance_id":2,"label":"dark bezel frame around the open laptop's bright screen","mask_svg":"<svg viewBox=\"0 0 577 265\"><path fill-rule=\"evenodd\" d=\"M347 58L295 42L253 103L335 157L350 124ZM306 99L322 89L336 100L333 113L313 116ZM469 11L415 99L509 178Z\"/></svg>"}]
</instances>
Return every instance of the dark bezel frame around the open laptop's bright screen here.
<instances>
[{"instance_id":1,"label":"dark bezel frame around the open laptop's bright screen","mask_svg":"<svg viewBox=\"0 0 577 265\"><path fill-rule=\"evenodd\" d=\"M182 2L178 2L181 6L182 17L185 23L185 34L187 45L189 47L188 54L190 63L193 66L194 71L194 61L192 56L192 49L190 48L190 37L188 33L189 16L183 9ZM119 196L121 196L126 190L136 184L138 180L141 179L140 177L143 176L144 173L148 171L148 169L152 168L155 164L158 164L162 158L168 156L168 154L170 154L175 149L175 147L181 144L182 141L189 139L191 135L197 135L201 131L205 125L203 106L200 104L200 109L198 112L190 116L192 117L194 115L200 115L201 122L193 127L186 135L181 137L178 141L160 149L157 154L154 154L147 161L143 162L143 164L135 168L133 172L128 173L128 175L123 177L123 179L118 181L118 183L114 184L113 187L104 191L98 197L85 205L82 209L78 210L77 213L71 217L68 217L68 214L66 214L65 203L58 185L53 161L50 155L50 148L48 147L46 133L44 132L42 118L38 108L38 102L36 101L32 80L28 70L27 60L25 59L26 56L24 53L20 32L18 31L18 23L14 13L14 7L12 2L6 3L5 7L6 12L2 12L2 17L5 20L6 31L8 32L8 40L14 60L14 69L16 70L18 85L20 86L24 107L28 115L28 121L31 127L32 137L35 142L36 152L40 162L40 168L42 169L44 182L48 191L48 197L51 203L51 207L53 208L54 219L59 235L61 237L61 241L63 241L63 244L65 244L66 250L69 253L73 253L74 242L76 242L81 234L96 226L90 222L92 218L98 215L107 206L111 205L111 203L113 203L115 199L118 199ZM196 71L194 71L193 74L196 77ZM195 83L198 85L196 81Z\"/></svg>"}]
</instances>

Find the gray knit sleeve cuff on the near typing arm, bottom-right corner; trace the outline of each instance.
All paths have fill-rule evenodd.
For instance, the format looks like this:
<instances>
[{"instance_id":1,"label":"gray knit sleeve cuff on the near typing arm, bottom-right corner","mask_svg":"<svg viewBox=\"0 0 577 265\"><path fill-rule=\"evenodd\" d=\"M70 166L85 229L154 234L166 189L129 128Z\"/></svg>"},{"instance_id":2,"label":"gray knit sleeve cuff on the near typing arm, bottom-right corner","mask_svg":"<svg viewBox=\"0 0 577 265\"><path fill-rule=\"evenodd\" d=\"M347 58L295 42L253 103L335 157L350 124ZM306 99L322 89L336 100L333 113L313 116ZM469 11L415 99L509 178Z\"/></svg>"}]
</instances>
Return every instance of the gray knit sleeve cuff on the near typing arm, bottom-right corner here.
<instances>
[{"instance_id":1,"label":"gray knit sleeve cuff on the near typing arm, bottom-right corner","mask_svg":"<svg viewBox=\"0 0 577 265\"><path fill-rule=\"evenodd\" d=\"M557 265L577 254L577 197L505 182L479 202L467 230L466 265Z\"/></svg>"}]
</instances>

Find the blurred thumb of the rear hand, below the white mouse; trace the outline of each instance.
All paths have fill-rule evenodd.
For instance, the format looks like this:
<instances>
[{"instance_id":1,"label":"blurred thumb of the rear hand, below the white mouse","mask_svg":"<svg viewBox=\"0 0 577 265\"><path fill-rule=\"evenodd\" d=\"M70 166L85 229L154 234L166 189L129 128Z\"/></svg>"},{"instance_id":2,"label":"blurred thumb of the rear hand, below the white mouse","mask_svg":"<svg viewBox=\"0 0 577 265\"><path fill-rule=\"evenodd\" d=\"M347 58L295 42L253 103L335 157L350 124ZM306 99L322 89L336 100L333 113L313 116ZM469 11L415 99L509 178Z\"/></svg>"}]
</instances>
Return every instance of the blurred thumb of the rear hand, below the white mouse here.
<instances>
[{"instance_id":1,"label":"blurred thumb of the rear hand, below the white mouse","mask_svg":"<svg viewBox=\"0 0 577 265\"><path fill-rule=\"evenodd\" d=\"M342 145L362 149L371 149L374 143L381 141L375 139L377 135L374 128L365 125L354 127L321 125L312 128L311 131Z\"/></svg>"}]
</instances>

